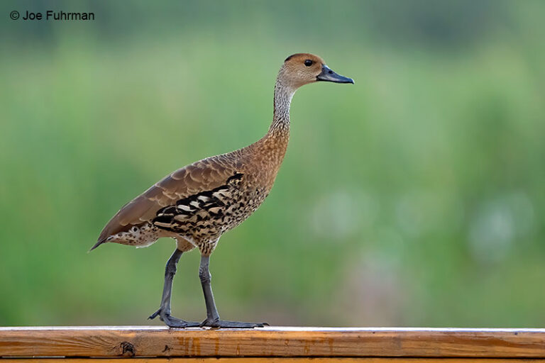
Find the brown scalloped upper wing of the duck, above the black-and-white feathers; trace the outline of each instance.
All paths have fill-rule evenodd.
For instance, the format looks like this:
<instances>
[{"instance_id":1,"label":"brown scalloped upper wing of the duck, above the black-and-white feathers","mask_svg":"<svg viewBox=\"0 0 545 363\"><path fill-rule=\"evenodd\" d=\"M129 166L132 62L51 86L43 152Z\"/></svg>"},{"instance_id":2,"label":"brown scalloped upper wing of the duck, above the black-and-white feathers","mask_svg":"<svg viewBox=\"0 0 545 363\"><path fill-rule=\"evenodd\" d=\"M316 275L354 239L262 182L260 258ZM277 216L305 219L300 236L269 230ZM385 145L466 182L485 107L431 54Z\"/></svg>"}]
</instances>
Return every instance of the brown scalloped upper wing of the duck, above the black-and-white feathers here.
<instances>
[{"instance_id":1,"label":"brown scalloped upper wing of the duck, above the black-and-white feathers","mask_svg":"<svg viewBox=\"0 0 545 363\"><path fill-rule=\"evenodd\" d=\"M129 230L133 225L152 222L157 212L165 206L175 205L180 199L226 184L229 177L236 174L236 169L231 158L225 156L211 157L178 169L126 203L106 224L95 246L106 242L111 235Z\"/></svg>"}]
</instances>

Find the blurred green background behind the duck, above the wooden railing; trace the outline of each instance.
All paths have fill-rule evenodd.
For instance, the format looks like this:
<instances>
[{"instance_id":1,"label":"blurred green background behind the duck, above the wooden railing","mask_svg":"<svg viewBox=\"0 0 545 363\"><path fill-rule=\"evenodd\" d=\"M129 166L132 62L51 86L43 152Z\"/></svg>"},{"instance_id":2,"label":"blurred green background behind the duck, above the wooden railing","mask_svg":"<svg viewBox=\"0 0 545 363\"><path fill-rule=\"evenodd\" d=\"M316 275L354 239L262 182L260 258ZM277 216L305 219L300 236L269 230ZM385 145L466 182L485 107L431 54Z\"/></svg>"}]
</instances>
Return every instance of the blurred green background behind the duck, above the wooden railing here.
<instances>
[{"instance_id":1,"label":"blurred green background behind the duck, above the wooden railing","mask_svg":"<svg viewBox=\"0 0 545 363\"><path fill-rule=\"evenodd\" d=\"M48 9L96 20L9 18ZM294 97L275 188L211 257L222 318L545 325L544 17L544 1L2 1L0 325L150 323L172 240L87 250L165 174L260 138L294 52L356 85ZM179 264L180 318L205 317L198 263Z\"/></svg>"}]
</instances>

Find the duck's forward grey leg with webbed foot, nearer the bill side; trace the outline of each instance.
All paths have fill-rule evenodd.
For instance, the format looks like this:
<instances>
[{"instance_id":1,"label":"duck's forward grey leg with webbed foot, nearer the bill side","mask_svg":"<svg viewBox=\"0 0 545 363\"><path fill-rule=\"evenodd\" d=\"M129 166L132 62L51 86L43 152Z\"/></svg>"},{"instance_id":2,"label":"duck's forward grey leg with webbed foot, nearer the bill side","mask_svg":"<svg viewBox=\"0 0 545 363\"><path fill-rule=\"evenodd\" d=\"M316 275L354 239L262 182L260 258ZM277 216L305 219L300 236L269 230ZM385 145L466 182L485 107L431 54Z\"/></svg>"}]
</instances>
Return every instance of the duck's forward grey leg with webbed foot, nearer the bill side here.
<instances>
[{"instance_id":1,"label":"duck's forward grey leg with webbed foot, nearer the bill side","mask_svg":"<svg viewBox=\"0 0 545 363\"><path fill-rule=\"evenodd\" d=\"M263 325L268 325L266 323L243 323L240 321L220 320L210 284L212 277L208 267L209 259L209 256L202 255L199 266L199 278L201 279L202 292L204 293L204 302L207 304L207 318L201 323L201 326L212 328L260 328Z\"/></svg>"}]
</instances>

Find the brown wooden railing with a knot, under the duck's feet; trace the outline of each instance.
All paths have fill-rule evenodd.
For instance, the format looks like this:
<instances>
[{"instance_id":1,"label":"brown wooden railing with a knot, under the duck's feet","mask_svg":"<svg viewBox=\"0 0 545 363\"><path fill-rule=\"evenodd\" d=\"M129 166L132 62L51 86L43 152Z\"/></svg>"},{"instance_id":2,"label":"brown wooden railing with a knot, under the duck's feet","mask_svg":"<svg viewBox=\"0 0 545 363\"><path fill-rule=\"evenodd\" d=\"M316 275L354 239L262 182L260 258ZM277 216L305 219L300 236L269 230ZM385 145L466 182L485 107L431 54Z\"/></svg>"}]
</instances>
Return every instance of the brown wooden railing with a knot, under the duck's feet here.
<instances>
[{"instance_id":1,"label":"brown wooden railing with a knot, under the duck's feet","mask_svg":"<svg viewBox=\"0 0 545 363\"><path fill-rule=\"evenodd\" d=\"M2 363L534 362L545 359L545 329L0 328L0 357Z\"/></svg>"}]
</instances>

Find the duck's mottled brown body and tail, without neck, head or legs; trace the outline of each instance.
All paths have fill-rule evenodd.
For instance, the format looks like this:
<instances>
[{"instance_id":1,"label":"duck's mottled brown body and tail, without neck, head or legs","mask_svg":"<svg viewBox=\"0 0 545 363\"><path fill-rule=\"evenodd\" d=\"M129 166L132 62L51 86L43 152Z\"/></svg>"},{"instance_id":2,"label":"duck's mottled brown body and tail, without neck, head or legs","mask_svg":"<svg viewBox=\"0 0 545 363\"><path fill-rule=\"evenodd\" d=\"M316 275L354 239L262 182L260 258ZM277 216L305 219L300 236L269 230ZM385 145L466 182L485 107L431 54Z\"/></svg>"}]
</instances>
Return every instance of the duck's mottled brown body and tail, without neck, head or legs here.
<instances>
[{"instance_id":1,"label":"duck's mottled brown body and tail, without neck, head or legs","mask_svg":"<svg viewBox=\"0 0 545 363\"><path fill-rule=\"evenodd\" d=\"M123 206L97 243L143 247L172 237L182 251L211 253L222 233L265 200L287 140L285 130L273 130L253 145L178 169Z\"/></svg>"}]
</instances>

